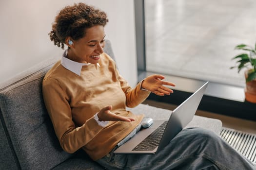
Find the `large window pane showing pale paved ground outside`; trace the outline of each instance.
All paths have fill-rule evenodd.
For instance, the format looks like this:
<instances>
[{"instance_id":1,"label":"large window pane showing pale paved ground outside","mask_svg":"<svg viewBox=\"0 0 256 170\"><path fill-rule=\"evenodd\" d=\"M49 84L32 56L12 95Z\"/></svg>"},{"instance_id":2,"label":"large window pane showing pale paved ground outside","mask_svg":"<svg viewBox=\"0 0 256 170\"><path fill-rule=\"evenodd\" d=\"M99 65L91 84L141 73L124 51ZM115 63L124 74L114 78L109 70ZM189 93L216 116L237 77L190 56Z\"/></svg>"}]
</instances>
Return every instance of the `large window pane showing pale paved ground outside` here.
<instances>
[{"instance_id":1,"label":"large window pane showing pale paved ground outside","mask_svg":"<svg viewBox=\"0 0 256 170\"><path fill-rule=\"evenodd\" d=\"M145 0L147 71L244 86L230 69L255 47L256 0Z\"/></svg>"}]
</instances>

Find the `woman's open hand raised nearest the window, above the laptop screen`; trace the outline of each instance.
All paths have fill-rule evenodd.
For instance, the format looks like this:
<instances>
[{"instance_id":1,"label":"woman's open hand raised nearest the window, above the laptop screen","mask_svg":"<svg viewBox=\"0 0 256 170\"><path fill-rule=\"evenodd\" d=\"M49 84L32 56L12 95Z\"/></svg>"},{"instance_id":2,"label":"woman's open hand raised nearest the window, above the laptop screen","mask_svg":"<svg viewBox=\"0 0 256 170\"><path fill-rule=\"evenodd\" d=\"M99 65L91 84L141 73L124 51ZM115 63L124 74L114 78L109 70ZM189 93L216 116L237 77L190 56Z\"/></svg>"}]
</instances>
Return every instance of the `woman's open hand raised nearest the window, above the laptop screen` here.
<instances>
[{"instance_id":1,"label":"woman's open hand raised nearest the window, above the laptop screen","mask_svg":"<svg viewBox=\"0 0 256 170\"><path fill-rule=\"evenodd\" d=\"M158 96L170 95L171 93L173 93L173 90L165 87L164 85L175 86L175 84L163 81L163 79L164 76L158 74L148 76L142 82L141 87L148 91L151 91L152 93L155 93Z\"/></svg>"}]
</instances>

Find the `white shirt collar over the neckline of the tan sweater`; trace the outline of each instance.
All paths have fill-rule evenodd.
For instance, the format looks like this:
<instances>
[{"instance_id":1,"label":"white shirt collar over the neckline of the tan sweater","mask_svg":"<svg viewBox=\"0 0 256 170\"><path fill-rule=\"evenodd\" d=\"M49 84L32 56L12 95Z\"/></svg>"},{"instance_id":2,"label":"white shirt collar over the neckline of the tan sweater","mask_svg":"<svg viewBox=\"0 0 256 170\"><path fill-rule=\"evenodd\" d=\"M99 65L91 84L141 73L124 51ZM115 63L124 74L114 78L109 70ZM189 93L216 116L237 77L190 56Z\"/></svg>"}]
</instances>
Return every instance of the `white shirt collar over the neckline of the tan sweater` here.
<instances>
[{"instance_id":1,"label":"white shirt collar over the neckline of the tan sweater","mask_svg":"<svg viewBox=\"0 0 256 170\"><path fill-rule=\"evenodd\" d=\"M67 68L68 70L72 71L73 73L75 73L79 76L81 75L82 66L88 66L91 64L91 63L78 63L73 60L70 60L67 58L67 54L68 54L68 49L65 50L62 55L61 65L64 68ZM100 67L100 65L98 63L97 63L97 66Z\"/></svg>"}]
</instances>

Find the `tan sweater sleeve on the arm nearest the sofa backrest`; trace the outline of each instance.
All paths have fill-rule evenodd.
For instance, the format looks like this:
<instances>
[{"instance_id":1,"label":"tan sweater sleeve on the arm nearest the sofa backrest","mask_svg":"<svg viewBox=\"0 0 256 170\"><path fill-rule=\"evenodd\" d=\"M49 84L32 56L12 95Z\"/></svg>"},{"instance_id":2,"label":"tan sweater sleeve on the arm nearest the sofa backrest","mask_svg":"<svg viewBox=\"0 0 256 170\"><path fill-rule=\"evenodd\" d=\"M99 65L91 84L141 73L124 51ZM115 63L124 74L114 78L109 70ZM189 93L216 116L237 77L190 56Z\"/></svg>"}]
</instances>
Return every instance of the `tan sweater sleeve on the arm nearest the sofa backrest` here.
<instances>
[{"instance_id":1,"label":"tan sweater sleeve on the arm nearest the sofa backrest","mask_svg":"<svg viewBox=\"0 0 256 170\"><path fill-rule=\"evenodd\" d=\"M60 146L67 153L74 153L79 150L104 128L98 125L93 117L88 119L82 126L75 126L69 105L70 99L63 87L59 85L58 80L50 77L45 78L42 92L44 103L52 120Z\"/></svg>"}]
</instances>

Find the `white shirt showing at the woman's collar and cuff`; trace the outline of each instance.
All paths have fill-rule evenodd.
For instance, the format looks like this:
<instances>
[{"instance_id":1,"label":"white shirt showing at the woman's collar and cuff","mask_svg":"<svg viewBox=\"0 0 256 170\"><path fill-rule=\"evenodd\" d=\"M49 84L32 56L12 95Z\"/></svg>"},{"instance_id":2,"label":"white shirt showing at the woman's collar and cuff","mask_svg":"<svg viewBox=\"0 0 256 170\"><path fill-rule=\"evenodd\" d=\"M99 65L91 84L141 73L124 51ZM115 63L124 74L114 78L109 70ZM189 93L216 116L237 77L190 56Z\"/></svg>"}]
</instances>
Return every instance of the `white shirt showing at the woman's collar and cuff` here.
<instances>
[{"instance_id":1,"label":"white shirt showing at the woman's collar and cuff","mask_svg":"<svg viewBox=\"0 0 256 170\"><path fill-rule=\"evenodd\" d=\"M81 69L83 66L88 66L90 65L91 63L79 63L79 62L76 62L76 61L73 61L73 60L70 60L67 58L67 54L68 54L68 49L64 51L63 55L62 55L62 58L61 58L61 65L64 67L64 68L67 68L68 70L74 72L75 74L77 75L81 75ZM97 63L97 66L99 66L99 64ZM102 127L105 127L109 121L99 121L98 120L98 113L96 113L93 117L99 126L102 126Z\"/></svg>"}]
</instances>

